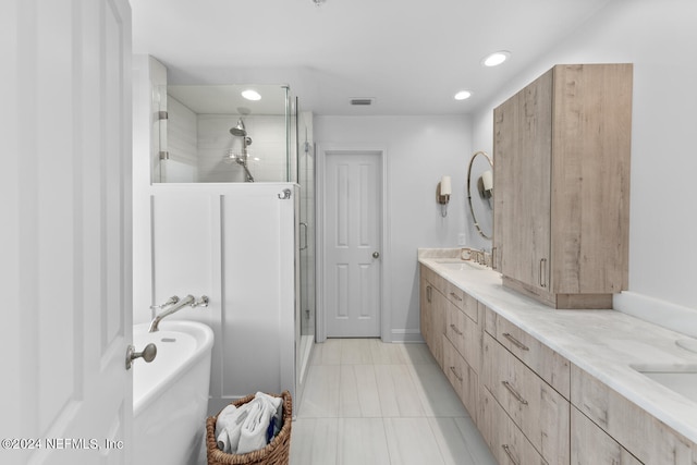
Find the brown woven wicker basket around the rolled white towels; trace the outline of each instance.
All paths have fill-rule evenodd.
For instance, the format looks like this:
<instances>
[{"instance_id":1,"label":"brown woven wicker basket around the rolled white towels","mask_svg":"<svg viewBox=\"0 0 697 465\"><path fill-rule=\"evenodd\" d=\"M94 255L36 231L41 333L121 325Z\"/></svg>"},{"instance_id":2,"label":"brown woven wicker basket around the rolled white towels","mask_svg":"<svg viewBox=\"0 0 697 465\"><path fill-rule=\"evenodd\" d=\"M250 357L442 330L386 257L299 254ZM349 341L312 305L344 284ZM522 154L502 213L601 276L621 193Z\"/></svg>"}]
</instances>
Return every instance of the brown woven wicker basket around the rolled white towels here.
<instances>
[{"instance_id":1,"label":"brown woven wicker basket around the rolled white towels","mask_svg":"<svg viewBox=\"0 0 697 465\"><path fill-rule=\"evenodd\" d=\"M291 425L293 424L293 400L291 393L283 391L281 395L274 397L283 399L283 426L271 442L264 449L253 451L247 454L227 454L218 449L216 441L216 420L215 417L208 417L206 420L206 448L208 449L208 465L247 465L247 464L265 464L265 465L288 465L291 450ZM233 402L233 405L240 407L254 399L254 394L247 395Z\"/></svg>"}]
</instances>

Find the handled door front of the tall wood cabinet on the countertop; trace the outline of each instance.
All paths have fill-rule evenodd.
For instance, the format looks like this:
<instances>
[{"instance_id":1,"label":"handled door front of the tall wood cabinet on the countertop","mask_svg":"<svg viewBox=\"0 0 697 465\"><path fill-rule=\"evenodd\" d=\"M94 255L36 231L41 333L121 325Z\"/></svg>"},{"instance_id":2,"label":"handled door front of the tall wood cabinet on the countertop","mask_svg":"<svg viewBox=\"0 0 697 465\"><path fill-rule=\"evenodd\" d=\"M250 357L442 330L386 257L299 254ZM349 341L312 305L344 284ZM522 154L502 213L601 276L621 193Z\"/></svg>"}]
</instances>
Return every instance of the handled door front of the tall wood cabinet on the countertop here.
<instances>
[{"instance_id":1,"label":"handled door front of the tall wood cabinet on the countertop","mask_svg":"<svg viewBox=\"0 0 697 465\"><path fill-rule=\"evenodd\" d=\"M549 289L551 118L551 71L494 110L496 258L504 276L541 290Z\"/></svg>"}]
</instances>

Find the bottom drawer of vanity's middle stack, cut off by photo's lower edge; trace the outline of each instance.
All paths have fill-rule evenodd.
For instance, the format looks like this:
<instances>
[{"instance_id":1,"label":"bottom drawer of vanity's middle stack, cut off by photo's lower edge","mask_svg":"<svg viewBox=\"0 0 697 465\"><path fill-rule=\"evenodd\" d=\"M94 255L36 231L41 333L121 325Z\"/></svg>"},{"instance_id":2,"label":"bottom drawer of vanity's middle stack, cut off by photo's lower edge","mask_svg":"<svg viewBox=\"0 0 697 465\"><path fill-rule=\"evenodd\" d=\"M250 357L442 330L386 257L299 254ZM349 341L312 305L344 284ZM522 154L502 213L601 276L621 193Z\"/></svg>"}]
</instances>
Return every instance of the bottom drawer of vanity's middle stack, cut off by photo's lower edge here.
<instances>
[{"instance_id":1,"label":"bottom drawer of vanity's middle stack, cut off by photo's lower edge","mask_svg":"<svg viewBox=\"0 0 697 465\"><path fill-rule=\"evenodd\" d=\"M485 387L480 388L479 400L478 427L498 463L547 465Z\"/></svg>"}]
</instances>

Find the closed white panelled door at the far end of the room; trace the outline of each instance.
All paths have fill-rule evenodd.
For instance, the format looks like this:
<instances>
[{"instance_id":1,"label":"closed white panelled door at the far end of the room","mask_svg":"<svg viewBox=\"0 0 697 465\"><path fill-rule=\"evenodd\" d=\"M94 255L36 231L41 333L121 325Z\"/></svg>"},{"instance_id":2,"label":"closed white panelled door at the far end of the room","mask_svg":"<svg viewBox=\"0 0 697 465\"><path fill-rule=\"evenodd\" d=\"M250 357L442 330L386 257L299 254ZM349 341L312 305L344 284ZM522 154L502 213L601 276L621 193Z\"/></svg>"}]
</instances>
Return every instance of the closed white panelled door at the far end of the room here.
<instances>
[{"instance_id":1,"label":"closed white panelled door at the far end of the room","mask_svg":"<svg viewBox=\"0 0 697 465\"><path fill-rule=\"evenodd\" d=\"M381 155L327 152L325 318L329 338L380 335Z\"/></svg>"}]
</instances>

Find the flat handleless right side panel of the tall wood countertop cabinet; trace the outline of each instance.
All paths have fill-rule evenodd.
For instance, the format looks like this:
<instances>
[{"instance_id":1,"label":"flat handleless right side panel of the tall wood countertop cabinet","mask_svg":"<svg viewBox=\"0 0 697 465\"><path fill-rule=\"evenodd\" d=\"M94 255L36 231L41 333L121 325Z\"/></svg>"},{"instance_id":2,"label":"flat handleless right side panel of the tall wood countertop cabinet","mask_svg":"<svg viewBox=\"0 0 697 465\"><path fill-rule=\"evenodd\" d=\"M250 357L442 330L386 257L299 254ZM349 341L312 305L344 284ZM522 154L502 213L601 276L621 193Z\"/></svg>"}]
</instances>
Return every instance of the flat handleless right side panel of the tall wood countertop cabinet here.
<instances>
[{"instance_id":1,"label":"flat handleless right side panel of the tall wood countertop cabinet","mask_svg":"<svg viewBox=\"0 0 697 465\"><path fill-rule=\"evenodd\" d=\"M551 281L560 294L616 293L628 284L633 66L553 71Z\"/></svg>"}]
</instances>

